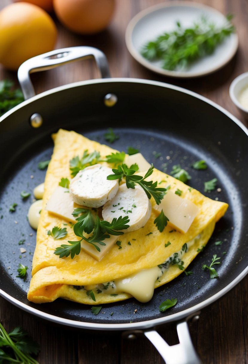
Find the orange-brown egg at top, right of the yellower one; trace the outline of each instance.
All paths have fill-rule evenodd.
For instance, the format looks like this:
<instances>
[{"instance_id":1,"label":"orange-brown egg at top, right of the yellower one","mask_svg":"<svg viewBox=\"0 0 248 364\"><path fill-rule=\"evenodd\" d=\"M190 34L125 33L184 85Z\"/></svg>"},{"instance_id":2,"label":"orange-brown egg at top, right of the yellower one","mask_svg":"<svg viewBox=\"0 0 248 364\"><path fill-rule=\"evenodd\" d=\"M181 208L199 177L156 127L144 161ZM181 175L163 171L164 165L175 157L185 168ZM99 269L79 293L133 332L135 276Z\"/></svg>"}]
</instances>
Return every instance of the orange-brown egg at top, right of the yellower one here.
<instances>
[{"instance_id":1,"label":"orange-brown egg at top, right of the yellower one","mask_svg":"<svg viewBox=\"0 0 248 364\"><path fill-rule=\"evenodd\" d=\"M65 27L76 33L92 34L107 27L115 0L53 0L53 7Z\"/></svg>"}]
</instances>

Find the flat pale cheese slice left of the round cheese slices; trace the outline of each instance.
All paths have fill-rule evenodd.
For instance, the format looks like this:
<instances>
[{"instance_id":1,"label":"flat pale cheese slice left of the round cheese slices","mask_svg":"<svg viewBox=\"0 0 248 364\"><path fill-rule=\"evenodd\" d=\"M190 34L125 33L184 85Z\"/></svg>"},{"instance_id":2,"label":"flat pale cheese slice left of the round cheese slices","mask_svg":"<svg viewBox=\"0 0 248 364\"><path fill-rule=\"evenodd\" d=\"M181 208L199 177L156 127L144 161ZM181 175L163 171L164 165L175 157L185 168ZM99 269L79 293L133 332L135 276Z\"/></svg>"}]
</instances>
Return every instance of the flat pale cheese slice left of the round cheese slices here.
<instances>
[{"instance_id":1,"label":"flat pale cheese slice left of the round cheese slices","mask_svg":"<svg viewBox=\"0 0 248 364\"><path fill-rule=\"evenodd\" d=\"M76 217L72 215L76 209L72 195L65 187L58 186L49 198L45 210L58 215L72 223L76 223Z\"/></svg>"}]
</instances>

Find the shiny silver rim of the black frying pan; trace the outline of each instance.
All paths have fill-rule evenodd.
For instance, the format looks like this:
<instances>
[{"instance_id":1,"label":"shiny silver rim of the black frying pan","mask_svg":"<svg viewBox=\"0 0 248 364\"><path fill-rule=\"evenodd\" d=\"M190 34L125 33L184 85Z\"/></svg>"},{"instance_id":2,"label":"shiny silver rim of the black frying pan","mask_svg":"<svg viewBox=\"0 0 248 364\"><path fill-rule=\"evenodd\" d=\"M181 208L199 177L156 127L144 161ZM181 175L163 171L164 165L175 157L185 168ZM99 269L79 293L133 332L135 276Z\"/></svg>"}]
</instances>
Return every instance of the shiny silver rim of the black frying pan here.
<instances>
[{"instance_id":1,"label":"shiny silver rim of the black frying pan","mask_svg":"<svg viewBox=\"0 0 248 364\"><path fill-rule=\"evenodd\" d=\"M112 83L112 82L128 82L128 83L142 83L142 84L150 84L153 86L160 86L165 88L170 88L175 91L183 92L185 94L188 94L190 96L193 96L197 99L200 99L209 105L217 108L219 111L223 112L223 114L227 115L229 119L231 119L233 122L235 122L244 132L248 135L248 128L241 123L239 119L237 119L234 115L232 115L229 111L224 109L223 107L219 106L217 103L213 102L212 100L209 100L208 98L201 96L200 94L197 94L196 92L187 90L185 88L174 86L168 83L163 83L159 81L153 81L153 80L145 80L145 79L136 79L136 78L109 78L109 79L95 79L95 80L86 80L86 81L79 81L75 83L70 83L67 85L59 86L56 88L53 88L51 90L47 90L42 92L41 94L38 94L36 96L33 96L32 98L25 100L24 102L20 103L19 105L13 107L11 110L7 111L3 116L0 117L0 122L3 122L8 116L15 113L17 110L22 108L23 106L32 103L34 100L38 100L40 98L43 98L44 96L48 96L50 94L53 94L55 92L63 91L68 88L72 87L81 87L88 84L97 84L97 83ZM0 289L0 296L5 298L7 301L11 302L15 306L23 309L24 311L34 314L37 317L44 318L45 320L62 324L69 327L74 328L81 328L81 329L91 329L91 330L107 330L107 331L120 331L120 330L133 330L133 329L148 329L152 328L157 325L171 323L172 321L179 321L184 319L185 317L191 316L192 314L198 312L199 310L205 308L206 306L212 304L216 300L218 300L220 297L224 296L229 290L231 290L233 287L235 287L248 273L248 266L237 276L232 282L230 282L227 286L225 286L223 289L221 289L219 292L214 294L213 296L207 298L207 300L204 300L200 302L197 305L194 305L186 310L171 314L169 316L159 317L152 320L146 320L146 321L140 321L137 323L113 323L113 324L100 324L100 323L89 323L89 322L83 322L83 321L75 321L67 318L61 318L59 316L54 316L52 314L45 313L39 309L33 308L31 306L28 306L27 304L24 304L23 302L17 300L16 298L10 296L8 293L4 292L2 289Z\"/></svg>"}]
</instances>

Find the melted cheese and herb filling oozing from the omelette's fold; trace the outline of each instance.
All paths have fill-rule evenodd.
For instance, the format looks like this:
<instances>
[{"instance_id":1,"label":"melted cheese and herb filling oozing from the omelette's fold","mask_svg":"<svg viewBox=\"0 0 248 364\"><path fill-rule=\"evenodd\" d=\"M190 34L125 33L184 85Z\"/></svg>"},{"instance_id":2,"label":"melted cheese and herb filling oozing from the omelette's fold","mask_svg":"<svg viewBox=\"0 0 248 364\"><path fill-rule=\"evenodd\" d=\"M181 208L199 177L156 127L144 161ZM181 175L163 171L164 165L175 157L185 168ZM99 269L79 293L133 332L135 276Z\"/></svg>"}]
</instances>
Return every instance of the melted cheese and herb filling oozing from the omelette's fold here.
<instances>
[{"instance_id":1,"label":"melted cheese and herb filling oozing from the omelette's fold","mask_svg":"<svg viewBox=\"0 0 248 364\"><path fill-rule=\"evenodd\" d=\"M201 234L185 243L182 248L173 253L165 262L159 266L140 270L128 277L117 279L116 281L105 282L102 284L85 286L86 290L97 289L103 294L118 294L121 292L132 294L140 302L151 300L154 292L156 280L169 268L169 265L183 265L182 257L188 249L200 239Z\"/></svg>"}]
</instances>

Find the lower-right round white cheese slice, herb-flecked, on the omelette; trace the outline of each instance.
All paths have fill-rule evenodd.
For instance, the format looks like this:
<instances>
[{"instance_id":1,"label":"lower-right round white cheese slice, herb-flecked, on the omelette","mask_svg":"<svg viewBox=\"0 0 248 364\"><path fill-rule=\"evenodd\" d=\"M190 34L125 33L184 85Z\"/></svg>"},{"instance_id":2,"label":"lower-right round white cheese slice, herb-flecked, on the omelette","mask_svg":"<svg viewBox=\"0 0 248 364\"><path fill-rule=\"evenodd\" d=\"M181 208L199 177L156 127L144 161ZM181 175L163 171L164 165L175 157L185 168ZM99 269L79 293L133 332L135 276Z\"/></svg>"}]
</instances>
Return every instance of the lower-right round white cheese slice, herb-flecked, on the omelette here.
<instances>
[{"instance_id":1,"label":"lower-right round white cheese slice, herb-flecked, on the omelette","mask_svg":"<svg viewBox=\"0 0 248 364\"><path fill-rule=\"evenodd\" d=\"M102 215L103 219L108 222L112 222L114 217L128 215L129 227L123 232L138 230L145 225L151 216L151 202L140 186L135 186L135 189L132 189L127 188L126 184L123 183L115 197L103 206Z\"/></svg>"}]
</instances>

